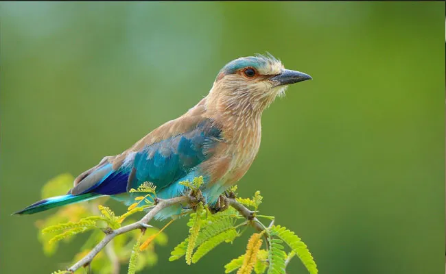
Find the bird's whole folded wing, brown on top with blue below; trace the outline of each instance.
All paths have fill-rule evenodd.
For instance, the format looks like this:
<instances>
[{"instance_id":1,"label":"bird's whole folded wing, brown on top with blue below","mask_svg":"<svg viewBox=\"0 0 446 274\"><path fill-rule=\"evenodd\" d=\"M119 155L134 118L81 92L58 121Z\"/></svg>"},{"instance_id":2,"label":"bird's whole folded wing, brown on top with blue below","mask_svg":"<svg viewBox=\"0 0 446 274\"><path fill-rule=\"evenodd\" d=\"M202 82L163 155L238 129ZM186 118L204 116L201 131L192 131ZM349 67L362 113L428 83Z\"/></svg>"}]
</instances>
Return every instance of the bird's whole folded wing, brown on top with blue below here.
<instances>
[{"instance_id":1,"label":"bird's whole folded wing, brown on top with blue below","mask_svg":"<svg viewBox=\"0 0 446 274\"><path fill-rule=\"evenodd\" d=\"M222 140L219 127L202 115L200 103L154 129L124 153L108 156L79 175L70 193L115 195L146 181L163 188L189 173L207 160Z\"/></svg>"}]
</instances>

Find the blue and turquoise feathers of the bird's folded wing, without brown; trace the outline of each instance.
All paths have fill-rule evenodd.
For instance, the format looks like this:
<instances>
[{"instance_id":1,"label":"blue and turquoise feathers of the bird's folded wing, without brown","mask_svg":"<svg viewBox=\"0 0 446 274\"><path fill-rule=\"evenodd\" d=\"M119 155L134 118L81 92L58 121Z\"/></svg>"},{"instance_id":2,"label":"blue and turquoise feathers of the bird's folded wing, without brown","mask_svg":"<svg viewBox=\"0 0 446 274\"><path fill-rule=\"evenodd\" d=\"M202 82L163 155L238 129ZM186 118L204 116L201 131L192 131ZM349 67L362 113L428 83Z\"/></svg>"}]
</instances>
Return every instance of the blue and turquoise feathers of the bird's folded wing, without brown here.
<instances>
[{"instance_id":1,"label":"blue and turquoise feathers of the bird's folded wing, without brown","mask_svg":"<svg viewBox=\"0 0 446 274\"><path fill-rule=\"evenodd\" d=\"M112 171L86 192L102 195L124 193L128 189L132 169L136 173L130 182L130 188L138 188L143 182L152 182L158 190L172 186L179 179L188 177L198 164L211 156L208 150L220 140L220 134L220 129L211 120L202 121L189 132L143 147L135 153L131 162ZM172 197L178 191L180 189L174 186L165 191L165 194Z\"/></svg>"}]
</instances>

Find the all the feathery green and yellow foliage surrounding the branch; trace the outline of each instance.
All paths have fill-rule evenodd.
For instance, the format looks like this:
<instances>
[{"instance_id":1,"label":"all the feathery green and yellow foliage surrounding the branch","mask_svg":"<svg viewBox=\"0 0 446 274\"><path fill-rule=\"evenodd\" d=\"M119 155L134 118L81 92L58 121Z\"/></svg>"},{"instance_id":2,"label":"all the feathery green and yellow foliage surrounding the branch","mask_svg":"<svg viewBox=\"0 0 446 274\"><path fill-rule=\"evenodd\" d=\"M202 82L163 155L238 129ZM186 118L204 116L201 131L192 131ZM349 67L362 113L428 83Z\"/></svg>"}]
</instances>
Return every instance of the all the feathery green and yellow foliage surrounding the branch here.
<instances>
[{"instance_id":1,"label":"all the feathery green and yellow foliage surrounding the branch","mask_svg":"<svg viewBox=\"0 0 446 274\"><path fill-rule=\"evenodd\" d=\"M69 182L70 181L70 182ZM64 184L71 184L72 176L67 174L60 175L52 179L48 184L62 188ZM301 259L310 274L318 273L316 263L309 253L307 246L298 238L294 232L280 225L264 225L257 218L265 218L274 220L272 216L258 215L259 206L263 201L263 197L259 191L256 191L252 198L239 198L236 201L253 210L254 218L249 220L246 216L242 216L235 208L229 207L222 212L211 213L209 206L204 204L200 188L203 184L202 177L196 177L192 182L180 182L181 185L189 188L189 195L196 199L189 204L190 209L181 212L181 216L189 215L187 227L189 227L189 235L185 240L180 242L171 252L169 261L178 260L185 256L187 264L195 264L203 256L218 247L222 242L232 243L235 238L247 231L247 227L253 223L257 223L257 229L260 231L251 235L244 255L239 256L224 266L224 273L237 274L256 273L262 274L283 274L289 262L294 255ZM68 188L68 186L67 186ZM39 240L43 243L43 249L47 255L52 255L58 248L58 242L64 240L69 242L76 234L91 231L91 235L82 246L82 251L78 253L73 262L76 262L86 256L91 249L102 240L104 232L108 233L113 229L118 229L124 223L134 223L135 220L129 219L133 214L143 211L145 208L153 206L154 198L156 198L156 186L150 182L145 182L139 188L132 189L130 192L143 192L143 196L132 198L134 203L128 207L127 212L117 216L113 210L107 206L96 205L88 206L88 203L73 204L64 208L60 208L56 214L49 216L45 220L36 222L36 225L42 230L39 234ZM232 186L226 192L227 197L235 197L237 186ZM48 195L51 192L49 187L45 187L43 193ZM49 195L50 196L50 195ZM102 198L99 198L102 199ZM100 200L104 201L104 200ZM212 210L215 212L215 210ZM173 221L173 220L172 220ZM165 227L167 227L170 221ZM165 228L163 227L163 229ZM240 229L240 228L244 229ZM263 227L263 231L259 227ZM268 228L267 228L268 227ZM147 266L152 266L158 261L155 245L165 245L167 236L163 229L156 227L148 227L141 232L139 229L132 230L126 234L121 234L111 241L108 245L112 245L115 256L120 262L128 261L128 273L134 274L141 271ZM147 238L145 238L147 236ZM268 240L266 249L261 249L263 236ZM143 241L143 238L145 240ZM135 240L136 239L136 240ZM141 245L141 242L143 244ZM285 246L290 251L287 255ZM141 254L144 256L141 256ZM100 251L91 262L91 268L94 273L109 274L113 271L113 265L109 255L104 251ZM218 272L218 271L214 271ZM56 271L54 274L69 273L67 271Z\"/></svg>"}]
</instances>

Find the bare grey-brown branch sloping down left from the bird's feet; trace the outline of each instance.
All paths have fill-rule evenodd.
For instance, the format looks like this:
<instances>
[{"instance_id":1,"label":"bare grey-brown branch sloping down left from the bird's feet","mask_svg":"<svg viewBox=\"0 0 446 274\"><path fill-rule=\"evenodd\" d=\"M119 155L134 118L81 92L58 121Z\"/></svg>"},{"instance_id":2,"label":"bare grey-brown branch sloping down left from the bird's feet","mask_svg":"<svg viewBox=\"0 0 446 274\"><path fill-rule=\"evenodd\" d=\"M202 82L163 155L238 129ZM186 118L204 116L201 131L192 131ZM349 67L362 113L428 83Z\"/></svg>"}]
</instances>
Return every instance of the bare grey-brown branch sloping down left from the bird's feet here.
<instances>
[{"instance_id":1,"label":"bare grey-brown branch sloping down left from the bird's feet","mask_svg":"<svg viewBox=\"0 0 446 274\"><path fill-rule=\"evenodd\" d=\"M89 265L91 263L91 261L93 260L93 258L95 258L97 253L99 253L102 249L104 249L104 247L106 247L108 242L113 240L113 238L115 238L116 236L130 232L134 229L138 229L138 228L145 229L146 227L149 227L149 225L147 223L149 221L151 221L154 218L154 216L156 214L158 214L164 208L168 208L169 206L174 206L178 203L189 203L189 201L190 201L190 198L186 197L186 196L175 197L172 199L165 199L165 200L158 199L156 206L154 206L154 208L152 208L150 210L150 212L148 212L148 214L145 214L145 216L143 216L143 218L141 220L139 220L135 223L131 223L130 225L120 227L119 229L112 230L93 249L91 249L91 251L86 256L84 256L84 258L82 258L81 260L79 260L78 262L73 264L73 266L71 266L68 269L68 271L73 273L74 271L77 271L78 269L80 269L82 266Z\"/></svg>"}]
</instances>

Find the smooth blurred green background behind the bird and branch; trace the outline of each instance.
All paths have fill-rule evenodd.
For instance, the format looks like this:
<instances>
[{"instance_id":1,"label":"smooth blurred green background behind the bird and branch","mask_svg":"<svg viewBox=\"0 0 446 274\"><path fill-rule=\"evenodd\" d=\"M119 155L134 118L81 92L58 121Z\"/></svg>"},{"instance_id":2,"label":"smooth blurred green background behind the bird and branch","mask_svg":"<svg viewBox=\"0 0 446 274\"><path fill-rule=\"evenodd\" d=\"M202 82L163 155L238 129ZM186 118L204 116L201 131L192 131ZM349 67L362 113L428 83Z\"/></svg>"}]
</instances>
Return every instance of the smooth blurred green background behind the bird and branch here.
<instances>
[{"instance_id":1,"label":"smooth blurred green background behind the bird and branch","mask_svg":"<svg viewBox=\"0 0 446 274\"><path fill-rule=\"evenodd\" d=\"M226 62L266 51L314 80L263 114L239 194L261 190L263 213L303 238L320 273L443 273L444 12L441 2L1 3L0 273L50 273L82 245L47 258L34 222L51 212L10 216L47 180L120 153L205 96ZM187 266L167 261L184 220L167 234L145 273L222 273L246 245ZM294 259L290 273L305 269Z\"/></svg>"}]
</instances>

